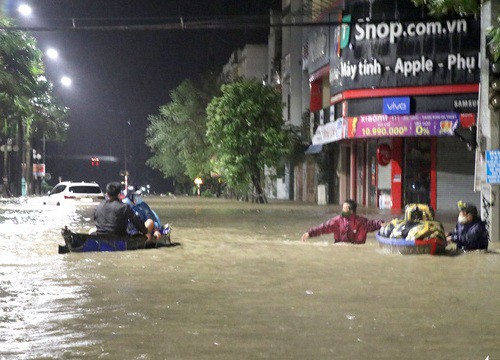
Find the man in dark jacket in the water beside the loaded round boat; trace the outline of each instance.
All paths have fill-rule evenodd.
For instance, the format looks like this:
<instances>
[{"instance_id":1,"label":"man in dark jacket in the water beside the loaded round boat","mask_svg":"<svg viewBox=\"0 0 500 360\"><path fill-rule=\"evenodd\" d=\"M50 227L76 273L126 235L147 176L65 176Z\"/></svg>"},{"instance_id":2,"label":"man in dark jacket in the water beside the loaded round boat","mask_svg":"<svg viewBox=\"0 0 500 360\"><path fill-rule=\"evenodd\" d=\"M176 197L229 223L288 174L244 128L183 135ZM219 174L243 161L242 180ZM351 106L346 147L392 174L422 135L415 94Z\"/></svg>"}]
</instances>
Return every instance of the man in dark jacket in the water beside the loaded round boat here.
<instances>
[{"instance_id":1,"label":"man in dark jacket in the water beside the loaded round boat","mask_svg":"<svg viewBox=\"0 0 500 360\"><path fill-rule=\"evenodd\" d=\"M446 240L457 244L462 250L488 249L488 231L479 219L477 208L472 204L459 202L458 222L448 233Z\"/></svg>"}]
</instances>

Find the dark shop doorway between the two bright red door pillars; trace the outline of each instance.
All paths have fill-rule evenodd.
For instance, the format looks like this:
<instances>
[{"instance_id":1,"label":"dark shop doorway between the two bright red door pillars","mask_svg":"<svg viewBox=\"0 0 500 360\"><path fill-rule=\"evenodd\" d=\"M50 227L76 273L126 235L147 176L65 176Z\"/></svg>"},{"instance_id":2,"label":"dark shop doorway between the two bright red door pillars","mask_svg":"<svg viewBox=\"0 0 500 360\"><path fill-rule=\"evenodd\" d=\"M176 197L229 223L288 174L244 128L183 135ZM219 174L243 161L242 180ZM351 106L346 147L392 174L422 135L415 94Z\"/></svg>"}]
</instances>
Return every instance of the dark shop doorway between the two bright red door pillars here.
<instances>
[{"instance_id":1,"label":"dark shop doorway between the two bright red door pillars","mask_svg":"<svg viewBox=\"0 0 500 360\"><path fill-rule=\"evenodd\" d=\"M431 204L431 139L405 138L403 203Z\"/></svg>"}]
</instances>

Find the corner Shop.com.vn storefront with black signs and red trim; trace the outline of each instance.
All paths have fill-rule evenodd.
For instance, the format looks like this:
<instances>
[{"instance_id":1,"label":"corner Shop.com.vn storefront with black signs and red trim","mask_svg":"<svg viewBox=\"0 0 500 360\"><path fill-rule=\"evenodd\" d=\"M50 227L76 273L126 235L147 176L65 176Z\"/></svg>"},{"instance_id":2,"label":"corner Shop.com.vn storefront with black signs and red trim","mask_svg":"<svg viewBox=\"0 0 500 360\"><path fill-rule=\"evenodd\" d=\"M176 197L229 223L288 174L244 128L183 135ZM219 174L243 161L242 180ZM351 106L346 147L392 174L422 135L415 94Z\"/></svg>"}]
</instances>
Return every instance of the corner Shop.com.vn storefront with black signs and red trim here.
<instances>
[{"instance_id":1,"label":"corner Shop.com.vn storefront with black signs and red trim","mask_svg":"<svg viewBox=\"0 0 500 360\"><path fill-rule=\"evenodd\" d=\"M333 121L313 137L313 144L338 142L339 201L393 210L478 203L468 149L479 89L477 19L427 18L409 0L355 0L341 10L344 24L330 29Z\"/></svg>"}]
</instances>

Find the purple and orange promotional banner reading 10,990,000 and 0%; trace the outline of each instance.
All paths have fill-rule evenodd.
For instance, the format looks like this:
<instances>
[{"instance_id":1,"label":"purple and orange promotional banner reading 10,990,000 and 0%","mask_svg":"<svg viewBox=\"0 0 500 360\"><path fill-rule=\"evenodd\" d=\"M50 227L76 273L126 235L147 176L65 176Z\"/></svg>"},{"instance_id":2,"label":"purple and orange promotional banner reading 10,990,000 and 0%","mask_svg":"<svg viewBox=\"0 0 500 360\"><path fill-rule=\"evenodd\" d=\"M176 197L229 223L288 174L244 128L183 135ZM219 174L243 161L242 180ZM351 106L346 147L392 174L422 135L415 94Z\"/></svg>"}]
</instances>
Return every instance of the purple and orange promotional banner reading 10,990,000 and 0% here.
<instances>
[{"instance_id":1,"label":"purple and orange promotional banner reading 10,990,000 and 0%","mask_svg":"<svg viewBox=\"0 0 500 360\"><path fill-rule=\"evenodd\" d=\"M348 138L404 136L452 136L457 127L457 113L414 115L361 115L348 118Z\"/></svg>"}]
</instances>

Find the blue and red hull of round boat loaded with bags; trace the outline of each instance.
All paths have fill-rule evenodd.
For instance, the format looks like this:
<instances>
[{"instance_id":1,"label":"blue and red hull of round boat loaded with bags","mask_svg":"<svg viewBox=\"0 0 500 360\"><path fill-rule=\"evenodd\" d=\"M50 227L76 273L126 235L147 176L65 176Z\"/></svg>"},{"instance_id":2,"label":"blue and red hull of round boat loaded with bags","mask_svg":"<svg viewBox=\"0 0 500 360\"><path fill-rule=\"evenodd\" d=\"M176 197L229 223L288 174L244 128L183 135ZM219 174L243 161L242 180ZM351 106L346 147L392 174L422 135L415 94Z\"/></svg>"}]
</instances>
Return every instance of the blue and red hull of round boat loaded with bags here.
<instances>
[{"instance_id":1,"label":"blue and red hull of round boat loaded with bags","mask_svg":"<svg viewBox=\"0 0 500 360\"><path fill-rule=\"evenodd\" d=\"M439 238L423 240L406 240L397 238L387 238L379 233L375 234L380 247L393 254L429 254L436 255L445 252L446 241Z\"/></svg>"}]
</instances>

